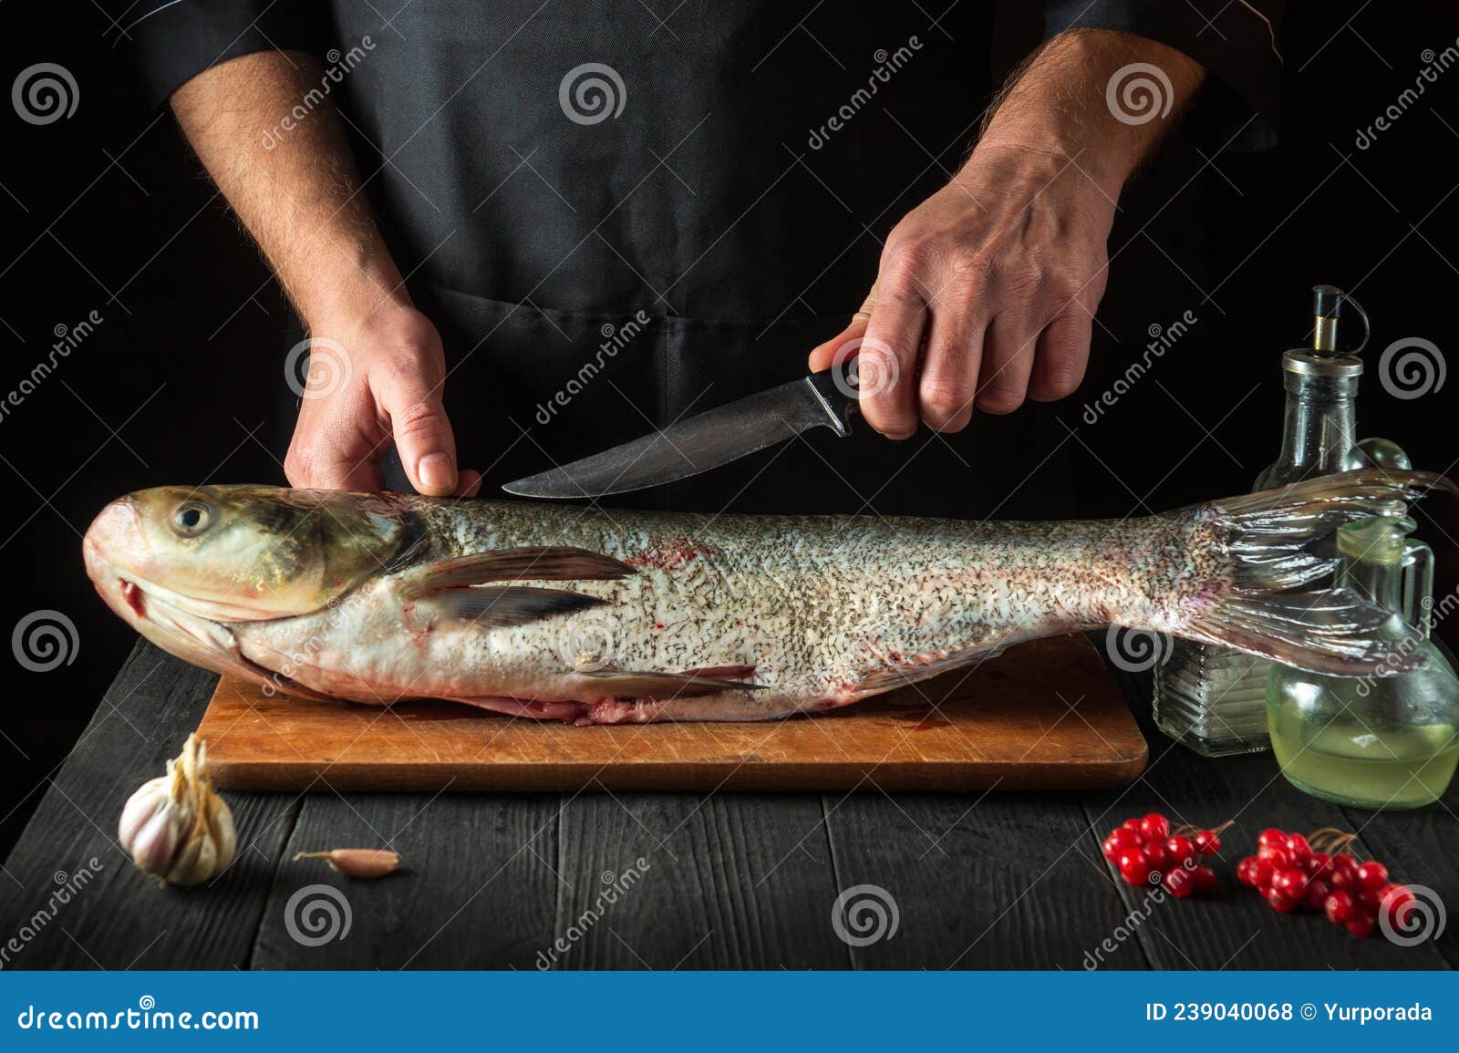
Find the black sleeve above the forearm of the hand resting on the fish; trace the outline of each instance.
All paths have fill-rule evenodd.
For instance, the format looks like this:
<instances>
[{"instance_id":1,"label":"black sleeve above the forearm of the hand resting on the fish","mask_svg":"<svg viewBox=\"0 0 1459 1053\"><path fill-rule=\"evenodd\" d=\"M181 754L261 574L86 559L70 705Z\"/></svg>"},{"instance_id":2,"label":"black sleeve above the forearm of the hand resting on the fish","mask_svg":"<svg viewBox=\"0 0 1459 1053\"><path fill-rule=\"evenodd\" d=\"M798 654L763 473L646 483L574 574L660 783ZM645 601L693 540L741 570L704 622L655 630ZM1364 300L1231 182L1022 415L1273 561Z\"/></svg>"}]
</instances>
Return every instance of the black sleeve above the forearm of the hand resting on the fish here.
<instances>
[{"instance_id":1,"label":"black sleeve above the forearm of the hand resting on the fish","mask_svg":"<svg viewBox=\"0 0 1459 1053\"><path fill-rule=\"evenodd\" d=\"M229 58L276 48L322 54L328 28L314 0L142 0L118 25L117 47L137 69L149 108Z\"/></svg>"}]
</instances>

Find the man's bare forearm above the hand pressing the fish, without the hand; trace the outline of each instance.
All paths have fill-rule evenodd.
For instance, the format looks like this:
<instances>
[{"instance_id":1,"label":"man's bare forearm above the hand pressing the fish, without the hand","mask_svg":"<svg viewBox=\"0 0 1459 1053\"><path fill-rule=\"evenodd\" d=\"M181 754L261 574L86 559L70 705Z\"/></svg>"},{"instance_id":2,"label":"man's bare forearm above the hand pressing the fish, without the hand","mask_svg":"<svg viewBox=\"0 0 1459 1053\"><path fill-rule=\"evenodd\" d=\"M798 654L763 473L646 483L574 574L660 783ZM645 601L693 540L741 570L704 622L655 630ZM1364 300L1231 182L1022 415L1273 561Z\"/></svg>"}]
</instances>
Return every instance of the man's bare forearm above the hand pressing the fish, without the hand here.
<instances>
[{"instance_id":1,"label":"man's bare forearm above the hand pressing the fish, without the hand","mask_svg":"<svg viewBox=\"0 0 1459 1053\"><path fill-rule=\"evenodd\" d=\"M293 114L320 80L312 55L267 51L172 95L198 159L315 330L410 303L330 101Z\"/></svg>"}]
</instances>

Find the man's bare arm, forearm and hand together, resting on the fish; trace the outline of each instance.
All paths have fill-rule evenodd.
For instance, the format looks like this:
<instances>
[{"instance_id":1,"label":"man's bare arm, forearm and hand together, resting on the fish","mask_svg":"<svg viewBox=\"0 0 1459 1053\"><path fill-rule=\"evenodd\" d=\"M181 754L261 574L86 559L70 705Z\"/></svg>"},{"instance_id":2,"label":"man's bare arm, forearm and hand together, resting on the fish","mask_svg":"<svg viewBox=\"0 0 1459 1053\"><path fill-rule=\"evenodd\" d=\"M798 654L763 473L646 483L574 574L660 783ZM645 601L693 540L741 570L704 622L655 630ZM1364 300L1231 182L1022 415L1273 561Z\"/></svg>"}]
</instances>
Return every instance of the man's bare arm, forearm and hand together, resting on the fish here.
<instances>
[{"instance_id":1,"label":"man's bare arm, forearm and hand together, resting on the fish","mask_svg":"<svg viewBox=\"0 0 1459 1053\"><path fill-rule=\"evenodd\" d=\"M480 475L457 471L441 404L441 337L406 293L338 115L324 104L298 117L321 77L312 55L267 51L214 66L172 95L178 124L311 335L346 359L309 370L285 474L293 486L378 490L378 461L394 439L416 490L474 493Z\"/></svg>"}]
</instances>

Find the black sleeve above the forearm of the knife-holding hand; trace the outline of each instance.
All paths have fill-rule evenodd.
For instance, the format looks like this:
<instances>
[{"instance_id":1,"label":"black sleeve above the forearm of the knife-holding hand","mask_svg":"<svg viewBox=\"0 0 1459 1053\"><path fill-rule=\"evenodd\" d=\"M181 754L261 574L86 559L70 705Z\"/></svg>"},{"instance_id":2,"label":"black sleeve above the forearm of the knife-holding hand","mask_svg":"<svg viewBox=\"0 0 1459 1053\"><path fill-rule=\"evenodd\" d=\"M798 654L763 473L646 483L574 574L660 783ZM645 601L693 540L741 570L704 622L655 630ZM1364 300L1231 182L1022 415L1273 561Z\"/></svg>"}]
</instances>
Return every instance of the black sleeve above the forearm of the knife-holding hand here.
<instances>
[{"instance_id":1,"label":"black sleeve above the forearm of the knife-holding hand","mask_svg":"<svg viewBox=\"0 0 1459 1053\"><path fill-rule=\"evenodd\" d=\"M1045 0L1043 32L1113 29L1182 51L1211 76L1192 123L1233 149L1262 150L1281 131L1284 9L1285 0Z\"/></svg>"}]
</instances>

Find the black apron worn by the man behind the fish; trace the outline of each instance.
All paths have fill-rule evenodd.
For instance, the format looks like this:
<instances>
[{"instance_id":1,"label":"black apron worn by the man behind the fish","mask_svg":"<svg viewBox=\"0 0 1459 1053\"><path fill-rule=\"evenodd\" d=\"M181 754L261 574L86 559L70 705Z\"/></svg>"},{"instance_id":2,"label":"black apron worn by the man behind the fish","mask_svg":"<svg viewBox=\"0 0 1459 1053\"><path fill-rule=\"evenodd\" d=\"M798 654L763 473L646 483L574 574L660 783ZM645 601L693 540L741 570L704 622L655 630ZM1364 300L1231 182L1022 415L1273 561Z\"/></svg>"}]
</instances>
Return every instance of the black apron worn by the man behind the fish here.
<instances>
[{"instance_id":1,"label":"black apron worn by the man behind the fish","mask_svg":"<svg viewBox=\"0 0 1459 1053\"><path fill-rule=\"evenodd\" d=\"M835 3L654 4L662 22L639 0L445 0L398 32L336 4L341 57L362 57L334 95L486 496L804 375L988 102L986 1L940 26L915 4L874 23ZM900 443L817 429L604 503L1053 516L1067 440L1032 403Z\"/></svg>"}]
</instances>

